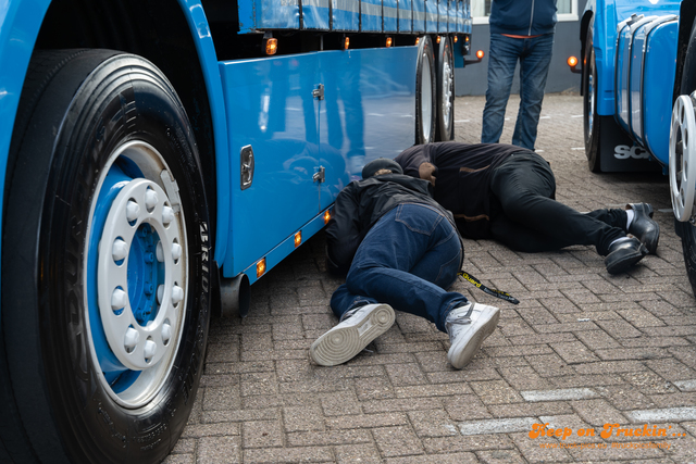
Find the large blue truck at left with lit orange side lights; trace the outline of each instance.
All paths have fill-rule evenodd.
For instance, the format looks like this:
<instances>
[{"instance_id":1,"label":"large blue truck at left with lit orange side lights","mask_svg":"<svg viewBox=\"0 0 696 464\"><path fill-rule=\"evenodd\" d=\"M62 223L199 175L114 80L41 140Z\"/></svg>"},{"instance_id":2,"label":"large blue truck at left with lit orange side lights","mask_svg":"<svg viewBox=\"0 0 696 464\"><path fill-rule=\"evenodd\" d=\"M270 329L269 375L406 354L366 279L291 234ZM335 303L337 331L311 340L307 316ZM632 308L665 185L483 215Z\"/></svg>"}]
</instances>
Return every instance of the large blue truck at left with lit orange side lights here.
<instances>
[{"instance_id":1,"label":"large blue truck at left with lit orange side lights","mask_svg":"<svg viewBox=\"0 0 696 464\"><path fill-rule=\"evenodd\" d=\"M470 0L0 0L0 461L154 463L212 313L453 137Z\"/></svg>"}]
</instances>

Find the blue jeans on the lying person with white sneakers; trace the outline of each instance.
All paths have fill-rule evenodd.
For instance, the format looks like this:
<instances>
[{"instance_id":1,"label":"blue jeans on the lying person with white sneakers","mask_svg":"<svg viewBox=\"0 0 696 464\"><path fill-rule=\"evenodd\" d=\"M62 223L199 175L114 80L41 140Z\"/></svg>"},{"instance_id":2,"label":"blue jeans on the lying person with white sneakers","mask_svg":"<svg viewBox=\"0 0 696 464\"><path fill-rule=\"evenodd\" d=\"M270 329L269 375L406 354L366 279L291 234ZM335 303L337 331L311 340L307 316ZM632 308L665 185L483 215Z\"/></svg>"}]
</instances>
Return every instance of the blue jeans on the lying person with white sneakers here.
<instances>
[{"instance_id":1,"label":"blue jeans on the lying person with white sneakers","mask_svg":"<svg viewBox=\"0 0 696 464\"><path fill-rule=\"evenodd\" d=\"M331 298L340 318L351 308L386 303L445 329L447 314L467 304L448 292L462 248L447 217L426 204L402 203L382 216L358 247L346 284Z\"/></svg>"}]
</instances>

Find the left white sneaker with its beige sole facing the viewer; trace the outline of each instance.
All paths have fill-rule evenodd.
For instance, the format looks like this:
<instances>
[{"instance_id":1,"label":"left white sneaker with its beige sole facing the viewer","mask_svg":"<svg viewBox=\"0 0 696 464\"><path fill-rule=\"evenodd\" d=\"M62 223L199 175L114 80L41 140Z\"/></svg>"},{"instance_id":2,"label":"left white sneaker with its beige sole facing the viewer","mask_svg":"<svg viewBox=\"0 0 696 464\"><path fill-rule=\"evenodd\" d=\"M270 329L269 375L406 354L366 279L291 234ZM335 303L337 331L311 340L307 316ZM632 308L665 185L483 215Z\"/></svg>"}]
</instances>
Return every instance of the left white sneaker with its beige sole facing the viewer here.
<instances>
[{"instance_id":1,"label":"left white sneaker with its beige sole facing the viewer","mask_svg":"<svg viewBox=\"0 0 696 464\"><path fill-rule=\"evenodd\" d=\"M388 304L360 306L351 315L344 316L336 327L319 337L309 349L309 354L322 366L343 364L387 331L394 319L394 310Z\"/></svg>"}]
</instances>

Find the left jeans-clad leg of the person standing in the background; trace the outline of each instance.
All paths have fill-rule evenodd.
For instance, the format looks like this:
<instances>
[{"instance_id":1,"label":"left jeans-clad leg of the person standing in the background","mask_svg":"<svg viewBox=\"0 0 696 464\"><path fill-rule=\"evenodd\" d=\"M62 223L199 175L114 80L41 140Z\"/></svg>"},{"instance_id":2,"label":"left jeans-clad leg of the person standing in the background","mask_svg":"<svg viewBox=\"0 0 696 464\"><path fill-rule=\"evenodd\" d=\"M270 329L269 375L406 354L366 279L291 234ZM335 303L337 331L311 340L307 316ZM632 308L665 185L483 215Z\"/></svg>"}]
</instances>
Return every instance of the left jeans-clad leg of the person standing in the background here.
<instances>
[{"instance_id":1,"label":"left jeans-clad leg of the person standing in the background","mask_svg":"<svg viewBox=\"0 0 696 464\"><path fill-rule=\"evenodd\" d=\"M510 98L514 66L522 52L523 39L490 35L488 50L488 88L483 110L482 143L497 143L502 134L505 109Z\"/></svg>"}]
</instances>

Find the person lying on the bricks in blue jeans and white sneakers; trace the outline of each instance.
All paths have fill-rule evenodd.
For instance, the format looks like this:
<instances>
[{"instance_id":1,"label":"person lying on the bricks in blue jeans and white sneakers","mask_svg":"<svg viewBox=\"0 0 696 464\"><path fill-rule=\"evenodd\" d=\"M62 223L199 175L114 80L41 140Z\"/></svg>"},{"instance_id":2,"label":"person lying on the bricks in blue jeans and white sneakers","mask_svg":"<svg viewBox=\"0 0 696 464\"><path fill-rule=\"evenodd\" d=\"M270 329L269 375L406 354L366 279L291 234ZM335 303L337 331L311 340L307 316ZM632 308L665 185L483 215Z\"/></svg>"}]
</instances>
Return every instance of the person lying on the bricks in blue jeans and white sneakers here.
<instances>
[{"instance_id":1,"label":"person lying on the bricks in blue jeans and white sneakers","mask_svg":"<svg viewBox=\"0 0 696 464\"><path fill-rule=\"evenodd\" d=\"M499 310L447 291L464 250L452 215L426 180L393 160L368 163L362 180L338 193L326 227L327 267L346 284L331 299L338 325L310 348L320 365L345 363L394 324L391 306L449 335L447 359L462 368L498 323Z\"/></svg>"}]
</instances>

